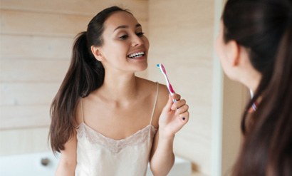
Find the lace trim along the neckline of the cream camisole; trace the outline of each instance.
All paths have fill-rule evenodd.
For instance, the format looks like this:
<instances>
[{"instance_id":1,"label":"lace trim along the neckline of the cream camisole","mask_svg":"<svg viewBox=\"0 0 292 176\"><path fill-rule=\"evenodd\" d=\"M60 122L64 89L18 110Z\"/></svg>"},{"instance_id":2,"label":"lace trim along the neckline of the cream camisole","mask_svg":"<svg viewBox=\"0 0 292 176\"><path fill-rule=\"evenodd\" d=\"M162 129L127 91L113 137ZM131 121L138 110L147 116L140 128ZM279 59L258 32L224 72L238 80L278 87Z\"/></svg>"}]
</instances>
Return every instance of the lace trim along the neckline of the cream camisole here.
<instances>
[{"instance_id":1,"label":"lace trim along the neckline of the cream camisole","mask_svg":"<svg viewBox=\"0 0 292 176\"><path fill-rule=\"evenodd\" d=\"M152 138L156 131L157 128L152 125L147 125L145 128L142 128L142 130L138 130L136 133L125 139L114 140L106 137L98 131L93 130L85 123L80 123L77 129L77 137L87 138L87 140L92 144L103 145L111 152L118 153L125 147L144 143L148 138Z\"/></svg>"}]
</instances>

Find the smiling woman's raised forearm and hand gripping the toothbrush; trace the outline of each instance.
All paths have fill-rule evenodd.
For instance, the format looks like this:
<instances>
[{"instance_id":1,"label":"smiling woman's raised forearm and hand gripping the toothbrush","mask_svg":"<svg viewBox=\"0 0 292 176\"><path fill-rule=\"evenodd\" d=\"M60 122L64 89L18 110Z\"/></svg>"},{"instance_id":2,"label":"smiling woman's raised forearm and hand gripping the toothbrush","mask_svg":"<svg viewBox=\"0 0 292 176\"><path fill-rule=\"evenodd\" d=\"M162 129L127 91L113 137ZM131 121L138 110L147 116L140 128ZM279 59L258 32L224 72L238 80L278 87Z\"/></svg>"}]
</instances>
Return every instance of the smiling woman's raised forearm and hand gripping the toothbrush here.
<instances>
[{"instance_id":1,"label":"smiling woman's raised forearm and hand gripping the toothbrush","mask_svg":"<svg viewBox=\"0 0 292 176\"><path fill-rule=\"evenodd\" d=\"M150 156L150 168L153 175L167 175L174 164L173 141L174 135L189 119L188 105L185 100L180 100L180 95L174 94L173 98L177 100L172 102L169 96L167 105L163 108L159 119L159 129L155 135Z\"/></svg>"}]
</instances>

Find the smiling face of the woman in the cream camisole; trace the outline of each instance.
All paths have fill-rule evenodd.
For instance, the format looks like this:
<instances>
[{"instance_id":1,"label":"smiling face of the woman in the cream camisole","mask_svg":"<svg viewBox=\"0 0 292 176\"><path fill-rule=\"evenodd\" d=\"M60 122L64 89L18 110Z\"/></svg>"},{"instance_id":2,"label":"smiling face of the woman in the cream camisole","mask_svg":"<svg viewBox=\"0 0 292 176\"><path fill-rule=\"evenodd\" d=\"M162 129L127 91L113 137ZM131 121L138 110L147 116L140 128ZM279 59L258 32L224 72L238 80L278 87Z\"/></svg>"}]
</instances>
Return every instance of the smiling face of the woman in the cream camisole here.
<instances>
[{"instance_id":1,"label":"smiling face of the woman in the cream camisole","mask_svg":"<svg viewBox=\"0 0 292 176\"><path fill-rule=\"evenodd\" d=\"M134 16L117 11L105 21L102 63L115 71L144 71L147 68L149 41Z\"/></svg>"}]
</instances>

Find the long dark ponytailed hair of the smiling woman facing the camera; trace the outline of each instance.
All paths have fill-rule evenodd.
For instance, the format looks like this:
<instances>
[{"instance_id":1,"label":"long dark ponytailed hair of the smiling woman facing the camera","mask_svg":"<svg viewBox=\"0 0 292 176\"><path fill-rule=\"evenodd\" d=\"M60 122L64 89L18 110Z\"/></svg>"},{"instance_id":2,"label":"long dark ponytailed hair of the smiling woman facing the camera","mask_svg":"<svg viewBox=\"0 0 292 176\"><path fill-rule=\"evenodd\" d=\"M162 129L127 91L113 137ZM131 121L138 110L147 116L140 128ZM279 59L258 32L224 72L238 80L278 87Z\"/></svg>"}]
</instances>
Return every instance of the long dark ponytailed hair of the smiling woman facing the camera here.
<instances>
[{"instance_id":1,"label":"long dark ponytailed hair of the smiling woman facing the camera","mask_svg":"<svg viewBox=\"0 0 292 176\"><path fill-rule=\"evenodd\" d=\"M64 144L73 137L78 99L103 85L105 69L103 64L95 59L90 47L102 46L103 24L115 11L130 14L118 6L104 9L89 22L87 31L79 33L75 39L71 64L51 104L49 140L53 152L64 150Z\"/></svg>"}]
</instances>

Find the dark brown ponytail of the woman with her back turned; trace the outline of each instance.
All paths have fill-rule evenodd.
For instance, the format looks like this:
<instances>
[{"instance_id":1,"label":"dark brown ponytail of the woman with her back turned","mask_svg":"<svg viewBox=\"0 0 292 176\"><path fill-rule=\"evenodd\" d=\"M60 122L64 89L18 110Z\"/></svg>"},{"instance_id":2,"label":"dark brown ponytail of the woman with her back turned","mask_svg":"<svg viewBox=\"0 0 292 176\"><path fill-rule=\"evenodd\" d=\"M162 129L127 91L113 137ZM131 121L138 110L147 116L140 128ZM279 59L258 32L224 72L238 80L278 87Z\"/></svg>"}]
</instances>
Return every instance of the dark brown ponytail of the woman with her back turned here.
<instances>
[{"instance_id":1,"label":"dark brown ponytail of the woman with her back turned","mask_svg":"<svg viewBox=\"0 0 292 176\"><path fill-rule=\"evenodd\" d=\"M233 175L292 175L291 17L284 23L271 80L251 117L255 123L245 135Z\"/></svg>"}]
</instances>

